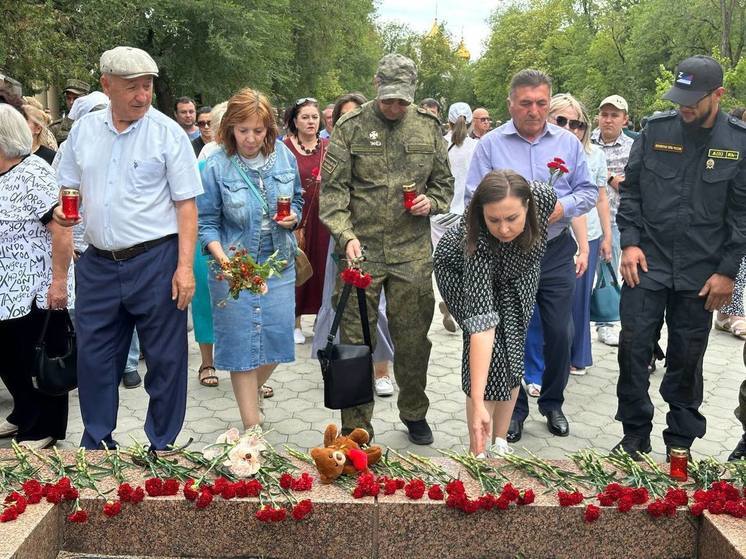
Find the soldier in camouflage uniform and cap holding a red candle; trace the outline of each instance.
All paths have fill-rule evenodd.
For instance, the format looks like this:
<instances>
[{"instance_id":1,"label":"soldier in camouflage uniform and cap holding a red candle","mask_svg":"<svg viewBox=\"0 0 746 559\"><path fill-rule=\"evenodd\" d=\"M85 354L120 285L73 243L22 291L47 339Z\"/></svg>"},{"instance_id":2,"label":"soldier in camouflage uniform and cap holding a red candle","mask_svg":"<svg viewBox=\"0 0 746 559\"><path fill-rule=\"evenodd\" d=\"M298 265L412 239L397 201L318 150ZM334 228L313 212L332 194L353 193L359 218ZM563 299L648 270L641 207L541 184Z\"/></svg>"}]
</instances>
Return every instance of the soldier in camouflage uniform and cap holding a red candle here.
<instances>
[{"instance_id":1,"label":"soldier in camouflage uniform and cap holding a red candle","mask_svg":"<svg viewBox=\"0 0 746 559\"><path fill-rule=\"evenodd\" d=\"M430 444L425 385L435 299L428 216L448 211L453 176L438 119L411 105L414 62L386 55L375 80L377 98L345 114L334 127L322 165L319 215L348 260L359 258L365 247L365 271L373 277L366 296L374 335L378 299L381 289L386 290L399 416L413 443ZM406 210L402 185L411 183L417 197ZM337 296L340 288L338 284ZM363 343L355 304L345 309L341 338ZM372 402L343 409L342 431L363 427L373 435L372 415Z\"/></svg>"}]
</instances>

